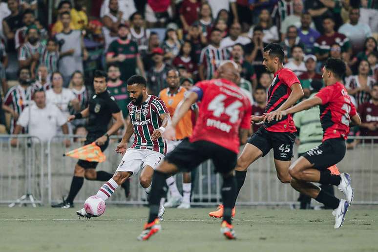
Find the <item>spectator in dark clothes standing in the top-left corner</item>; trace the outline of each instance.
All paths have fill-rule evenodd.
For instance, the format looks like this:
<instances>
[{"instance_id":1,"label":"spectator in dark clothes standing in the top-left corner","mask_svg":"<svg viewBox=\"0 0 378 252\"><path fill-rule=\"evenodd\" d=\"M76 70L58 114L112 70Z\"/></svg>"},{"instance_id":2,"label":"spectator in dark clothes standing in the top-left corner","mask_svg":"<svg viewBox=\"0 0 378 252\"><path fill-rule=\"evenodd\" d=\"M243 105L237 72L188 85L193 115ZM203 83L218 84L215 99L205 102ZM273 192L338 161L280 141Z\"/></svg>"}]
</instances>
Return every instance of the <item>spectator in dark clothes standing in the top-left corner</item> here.
<instances>
[{"instance_id":1,"label":"spectator in dark clothes standing in the top-left corner","mask_svg":"<svg viewBox=\"0 0 378 252\"><path fill-rule=\"evenodd\" d=\"M7 0L8 8L11 14L2 20L2 29L7 39L7 49L9 52L15 52L15 33L22 27L22 13L18 0Z\"/></svg>"}]
</instances>

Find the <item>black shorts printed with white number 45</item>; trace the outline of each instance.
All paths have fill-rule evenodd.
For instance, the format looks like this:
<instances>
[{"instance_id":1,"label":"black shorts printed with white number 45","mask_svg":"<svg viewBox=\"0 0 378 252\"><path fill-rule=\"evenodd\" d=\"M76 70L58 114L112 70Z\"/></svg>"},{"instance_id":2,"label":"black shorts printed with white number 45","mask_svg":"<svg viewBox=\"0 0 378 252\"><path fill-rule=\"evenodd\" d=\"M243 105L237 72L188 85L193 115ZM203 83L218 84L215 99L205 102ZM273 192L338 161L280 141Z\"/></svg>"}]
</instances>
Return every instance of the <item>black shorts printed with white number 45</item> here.
<instances>
[{"instance_id":1,"label":"black shorts printed with white number 45","mask_svg":"<svg viewBox=\"0 0 378 252\"><path fill-rule=\"evenodd\" d=\"M260 127L248 141L259 148L263 156L273 148L274 159L290 161L293 158L295 134L290 132L272 132Z\"/></svg>"}]
</instances>

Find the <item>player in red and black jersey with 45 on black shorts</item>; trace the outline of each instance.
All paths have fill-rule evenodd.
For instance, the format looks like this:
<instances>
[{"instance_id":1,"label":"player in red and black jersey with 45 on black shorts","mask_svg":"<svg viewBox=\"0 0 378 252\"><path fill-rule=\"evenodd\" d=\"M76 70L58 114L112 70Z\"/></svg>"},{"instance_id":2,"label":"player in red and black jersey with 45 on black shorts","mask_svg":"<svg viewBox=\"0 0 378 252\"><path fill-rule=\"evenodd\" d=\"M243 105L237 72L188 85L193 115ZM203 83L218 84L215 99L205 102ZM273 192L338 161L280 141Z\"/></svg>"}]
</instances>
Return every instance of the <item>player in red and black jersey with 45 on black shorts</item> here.
<instances>
[{"instance_id":1,"label":"player in red and black jersey with 45 on black shorts","mask_svg":"<svg viewBox=\"0 0 378 252\"><path fill-rule=\"evenodd\" d=\"M279 44L271 43L265 46L263 65L269 72L274 73L265 107L265 113L271 113L270 116L291 107L303 96L303 90L298 78L292 70L283 67L283 61L284 51ZM236 197L244 184L247 168L255 160L268 154L272 148L278 179L282 183L290 183L289 167L293 157L294 132L296 131L293 117L289 115L281 120L271 122L264 120L264 118L265 115L251 116L251 123L264 121L264 125L253 133L242 154L237 159L235 168ZM235 209L233 206L232 216L234 214ZM209 215L216 218L222 217L223 206L220 205L218 210L210 212Z\"/></svg>"}]
</instances>

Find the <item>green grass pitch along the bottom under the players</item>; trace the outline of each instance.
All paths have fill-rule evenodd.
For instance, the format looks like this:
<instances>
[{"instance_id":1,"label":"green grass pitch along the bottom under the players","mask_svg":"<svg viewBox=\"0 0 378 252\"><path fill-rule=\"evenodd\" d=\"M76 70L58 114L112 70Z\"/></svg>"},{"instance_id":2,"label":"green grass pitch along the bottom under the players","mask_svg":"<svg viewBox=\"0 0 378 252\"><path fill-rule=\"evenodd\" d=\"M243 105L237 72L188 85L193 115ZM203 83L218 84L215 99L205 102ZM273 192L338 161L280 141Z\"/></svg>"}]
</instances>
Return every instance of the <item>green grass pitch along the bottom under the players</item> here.
<instances>
[{"instance_id":1,"label":"green grass pitch along the bottom under the players","mask_svg":"<svg viewBox=\"0 0 378 252\"><path fill-rule=\"evenodd\" d=\"M167 209L162 231L140 242L148 209L107 206L99 218L79 220L79 209L0 207L0 251L3 252L378 252L378 208L353 206L339 230L331 210L237 208L238 239L219 232L215 208Z\"/></svg>"}]
</instances>

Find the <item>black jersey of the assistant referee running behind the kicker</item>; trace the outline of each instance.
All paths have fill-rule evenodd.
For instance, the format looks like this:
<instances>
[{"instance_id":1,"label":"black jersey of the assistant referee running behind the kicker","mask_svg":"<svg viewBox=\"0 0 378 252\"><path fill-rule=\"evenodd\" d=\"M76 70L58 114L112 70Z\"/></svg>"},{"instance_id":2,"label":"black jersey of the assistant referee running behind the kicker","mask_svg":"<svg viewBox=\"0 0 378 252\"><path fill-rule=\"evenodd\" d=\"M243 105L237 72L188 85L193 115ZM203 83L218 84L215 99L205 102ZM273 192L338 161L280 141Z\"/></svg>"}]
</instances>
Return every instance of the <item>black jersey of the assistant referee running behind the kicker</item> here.
<instances>
[{"instance_id":1,"label":"black jersey of the assistant referee running behind the kicker","mask_svg":"<svg viewBox=\"0 0 378 252\"><path fill-rule=\"evenodd\" d=\"M105 134L112 114L120 112L114 97L107 90L95 94L89 100L89 120L86 126L88 133Z\"/></svg>"}]
</instances>

